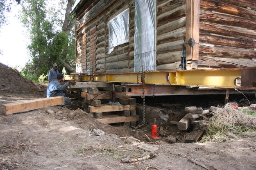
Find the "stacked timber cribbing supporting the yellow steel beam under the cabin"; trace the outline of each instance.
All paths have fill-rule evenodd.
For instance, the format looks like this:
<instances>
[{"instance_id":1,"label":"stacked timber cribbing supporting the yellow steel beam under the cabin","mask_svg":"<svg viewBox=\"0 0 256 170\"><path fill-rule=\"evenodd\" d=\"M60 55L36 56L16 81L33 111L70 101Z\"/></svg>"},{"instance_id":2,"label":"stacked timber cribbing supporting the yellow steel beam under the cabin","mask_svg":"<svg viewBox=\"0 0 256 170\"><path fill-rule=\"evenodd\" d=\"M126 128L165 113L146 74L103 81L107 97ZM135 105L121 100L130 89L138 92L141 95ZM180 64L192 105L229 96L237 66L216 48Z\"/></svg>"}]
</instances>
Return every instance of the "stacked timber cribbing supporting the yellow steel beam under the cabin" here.
<instances>
[{"instance_id":1,"label":"stacked timber cribbing supporting the yellow steel beam under the cabin","mask_svg":"<svg viewBox=\"0 0 256 170\"><path fill-rule=\"evenodd\" d=\"M135 125L138 121L136 115L136 99L126 96L125 86L115 85L116 101L120 105L109 105L111 101L112 86L82 88L81 96L84 100L82 106L86 112L93 114L93 117L105 124L129 122ZM128 124L129 124L128 123Z\"/></svg>"}]
</instances>

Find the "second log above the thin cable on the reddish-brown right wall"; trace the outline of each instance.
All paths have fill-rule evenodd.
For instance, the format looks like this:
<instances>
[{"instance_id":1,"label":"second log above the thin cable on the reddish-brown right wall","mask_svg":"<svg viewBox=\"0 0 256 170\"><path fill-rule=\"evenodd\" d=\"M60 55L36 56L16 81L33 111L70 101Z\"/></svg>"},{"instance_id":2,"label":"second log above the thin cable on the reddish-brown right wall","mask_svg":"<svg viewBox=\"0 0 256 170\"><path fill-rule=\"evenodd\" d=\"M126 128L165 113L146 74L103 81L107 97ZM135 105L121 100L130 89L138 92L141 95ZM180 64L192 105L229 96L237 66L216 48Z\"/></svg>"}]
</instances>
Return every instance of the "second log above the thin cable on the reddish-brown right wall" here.
<instances>
[{"instance_id":1,"label":"second log above the thin cable on the reddish-brown right wall","mask_svg":"<svg viewBox=\"0 0 256 170\"><path fill-rule=\"evenodd\" d=\"M237 27L227 27L218 24L213 24L209 22L200 22L200 32L201 33L212 33L212 34L219 34L222 36L229 36L241 39L256 39L256 31L237 28Z\"/></svg>"}]
</instances>

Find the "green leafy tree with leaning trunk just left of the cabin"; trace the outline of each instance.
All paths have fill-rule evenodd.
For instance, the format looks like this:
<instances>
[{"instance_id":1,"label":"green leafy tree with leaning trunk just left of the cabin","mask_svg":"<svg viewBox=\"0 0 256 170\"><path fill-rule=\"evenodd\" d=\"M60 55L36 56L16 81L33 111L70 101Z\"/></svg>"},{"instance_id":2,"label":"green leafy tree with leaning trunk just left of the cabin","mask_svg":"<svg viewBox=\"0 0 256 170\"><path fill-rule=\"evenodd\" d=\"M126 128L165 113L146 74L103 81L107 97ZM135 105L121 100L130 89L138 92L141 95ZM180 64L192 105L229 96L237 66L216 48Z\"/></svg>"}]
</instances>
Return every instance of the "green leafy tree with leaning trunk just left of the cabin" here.
<instances>
[{"instance_id":1,"label":"green leafy tree with leaning trunk just left of the cabin","mask_svg":"<svg viewBox=\"0 0 256 170\"><path fill-rule=\"evenodd\" d=\"M53 63L58 63L60 71L65 67L68 73L75 72L75 21L74 16L70 17L74 3L75 0L61 0L57 8L45 0L21 2L21 19L31 40L28 49L32 60L25 66L25 73L37 77L47 74Z\"/></svg>"}]
</instances>

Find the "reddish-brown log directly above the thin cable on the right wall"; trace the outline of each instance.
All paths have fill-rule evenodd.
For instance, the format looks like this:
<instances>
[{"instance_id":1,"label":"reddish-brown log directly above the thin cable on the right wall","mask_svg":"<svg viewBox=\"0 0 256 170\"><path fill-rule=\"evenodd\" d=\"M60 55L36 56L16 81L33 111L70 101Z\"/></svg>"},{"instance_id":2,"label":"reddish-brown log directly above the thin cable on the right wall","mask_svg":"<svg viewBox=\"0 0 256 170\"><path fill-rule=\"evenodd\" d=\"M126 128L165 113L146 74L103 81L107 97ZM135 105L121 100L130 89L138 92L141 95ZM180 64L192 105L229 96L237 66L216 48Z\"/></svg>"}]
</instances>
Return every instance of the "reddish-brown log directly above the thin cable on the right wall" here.
<instances>
[{"instance_id":1,"label":"reddish-brown log directly above the thin cable on the right wall","mask_svg":"<svg viewBox=\"0 0 256 170\"><path fill-rule=\"evenodd\" d=\"M199 42L248 49L254 49L256 47L256 41L253 40L228 38L224 36L215 36L210 34L199 34Z\"/></svg>"}]
</instances>

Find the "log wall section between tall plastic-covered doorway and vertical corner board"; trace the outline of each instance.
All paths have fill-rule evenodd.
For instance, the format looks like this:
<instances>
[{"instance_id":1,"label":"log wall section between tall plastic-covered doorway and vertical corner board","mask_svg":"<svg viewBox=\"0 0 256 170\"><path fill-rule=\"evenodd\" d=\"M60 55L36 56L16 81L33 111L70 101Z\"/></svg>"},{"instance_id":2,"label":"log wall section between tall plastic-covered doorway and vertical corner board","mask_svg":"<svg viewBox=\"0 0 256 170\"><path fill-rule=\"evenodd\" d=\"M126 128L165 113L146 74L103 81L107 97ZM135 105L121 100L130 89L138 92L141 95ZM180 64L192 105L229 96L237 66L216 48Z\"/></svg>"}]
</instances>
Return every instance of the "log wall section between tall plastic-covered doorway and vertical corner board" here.
<instances>
[{"instance_id":1,"label":"log wall section between tall plastic-covered doorway and vertical corner board","mask_svg":"<svg viewBox=\"0 0 256 170\"><path fill-rule=\"evenodd\" d=\"M156 69L180 70L186 34L186 0L158 0Z\"/></svg>"}]
</instances>

